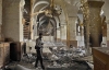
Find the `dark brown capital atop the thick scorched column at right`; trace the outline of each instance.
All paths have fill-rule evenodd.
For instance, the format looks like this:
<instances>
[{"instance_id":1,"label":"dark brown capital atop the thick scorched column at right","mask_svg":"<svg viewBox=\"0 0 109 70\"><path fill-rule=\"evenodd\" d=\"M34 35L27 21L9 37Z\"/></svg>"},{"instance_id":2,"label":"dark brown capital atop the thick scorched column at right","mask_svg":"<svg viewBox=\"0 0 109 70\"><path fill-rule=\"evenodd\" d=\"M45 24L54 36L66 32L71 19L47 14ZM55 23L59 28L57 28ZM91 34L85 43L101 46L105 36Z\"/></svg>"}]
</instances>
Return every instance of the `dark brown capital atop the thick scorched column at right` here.
<instances>
[{"instance_id":1,"label":"dark brown capital atop the thick scorched column at right","mask_svg":"<svg viewBox=\"0 0 109 70\"><path fill-rule=\"evenodd\" d=\"M89 7L101 8L104 5L105 1L88 0L87 3Z\"/></svg>"}]
</instances>

